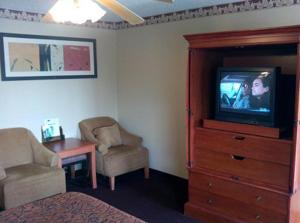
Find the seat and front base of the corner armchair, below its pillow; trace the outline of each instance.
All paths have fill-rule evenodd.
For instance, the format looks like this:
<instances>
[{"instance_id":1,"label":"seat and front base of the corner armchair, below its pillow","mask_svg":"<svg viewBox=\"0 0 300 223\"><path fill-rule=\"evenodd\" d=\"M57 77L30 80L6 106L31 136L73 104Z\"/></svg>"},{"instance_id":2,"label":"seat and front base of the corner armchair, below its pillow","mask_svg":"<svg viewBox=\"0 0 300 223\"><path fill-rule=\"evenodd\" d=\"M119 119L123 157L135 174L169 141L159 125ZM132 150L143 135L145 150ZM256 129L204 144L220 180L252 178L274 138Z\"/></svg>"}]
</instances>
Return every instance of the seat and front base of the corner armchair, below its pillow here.
<instances>
[{"instance_id":1,"label":"seat and front base of the corner armchair, below its pillow","mask_svg":"<svg viewBox=\"0 0 300 223\"><path fill-rule=\"evenodd\" d=\"M111 147L107 154L96 153L97 172L105 176L118 176L148 166L148 150L136 146Z\"/></svg>"}]
</instances>

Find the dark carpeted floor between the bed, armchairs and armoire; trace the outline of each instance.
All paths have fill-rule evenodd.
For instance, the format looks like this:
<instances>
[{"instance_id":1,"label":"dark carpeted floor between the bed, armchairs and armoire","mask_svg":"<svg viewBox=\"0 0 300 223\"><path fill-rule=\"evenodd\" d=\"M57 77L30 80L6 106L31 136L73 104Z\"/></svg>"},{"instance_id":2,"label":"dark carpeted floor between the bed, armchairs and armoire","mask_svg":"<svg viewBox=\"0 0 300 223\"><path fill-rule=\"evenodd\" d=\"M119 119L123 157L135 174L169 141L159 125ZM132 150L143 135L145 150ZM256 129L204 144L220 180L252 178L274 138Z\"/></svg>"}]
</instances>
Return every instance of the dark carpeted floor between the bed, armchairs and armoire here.
<instances>
[{"instance_id":1,"label":"dark carpeted floor between the bed, armchairs and armoire","mask_svg":"<svg viewBox=\"0 0 300 223\"><path fill-rule=\"evenodd\" d=\"M116 189L110 191L108 178L100 175L98 189L79 174L67 177L67 191L77 191L99 198L123 211L153 223L196 223L183 215L187 201L187 180L150 170L150 179L144 179L143 170L116 178Z\"/></svg>"}]
</instances>

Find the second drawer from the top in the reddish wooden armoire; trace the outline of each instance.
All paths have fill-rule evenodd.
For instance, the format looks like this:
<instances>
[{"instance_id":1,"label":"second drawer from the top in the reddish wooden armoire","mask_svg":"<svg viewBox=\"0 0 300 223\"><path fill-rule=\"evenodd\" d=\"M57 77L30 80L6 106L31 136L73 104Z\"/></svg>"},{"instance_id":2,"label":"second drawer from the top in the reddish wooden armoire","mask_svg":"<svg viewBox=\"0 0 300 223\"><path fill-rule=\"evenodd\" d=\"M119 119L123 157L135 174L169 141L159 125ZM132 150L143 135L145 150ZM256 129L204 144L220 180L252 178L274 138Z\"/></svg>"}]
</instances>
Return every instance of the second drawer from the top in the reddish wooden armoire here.
<instances>
[{"instance_id":1,"label":"second drawer from the top in the reddish wooden armoire","mask_svg":"<svg viewBox=\"0 0 300 223\"><path fill-rule=\"evenodd\" d=\"M220 153L208 149L197 148L195 151L195 168L205 168L223 172L235 180L259 181L289 191L289 171L287 165L254 160Z\"/></svg>"}]
</instances>

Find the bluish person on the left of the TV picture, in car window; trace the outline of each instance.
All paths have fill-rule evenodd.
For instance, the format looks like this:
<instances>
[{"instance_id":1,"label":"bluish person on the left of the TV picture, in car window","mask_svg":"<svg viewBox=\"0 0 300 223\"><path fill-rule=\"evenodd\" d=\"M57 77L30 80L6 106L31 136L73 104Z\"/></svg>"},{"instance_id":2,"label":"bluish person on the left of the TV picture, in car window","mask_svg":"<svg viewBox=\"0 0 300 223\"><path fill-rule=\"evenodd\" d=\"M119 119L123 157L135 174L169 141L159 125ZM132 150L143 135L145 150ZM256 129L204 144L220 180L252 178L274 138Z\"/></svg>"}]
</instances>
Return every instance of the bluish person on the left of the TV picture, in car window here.
<instances>
[{"instance_id":1,"label":"bluish person on the left of the TV picture, in car window","mask_svg":"<svg viewBox=\"0 0 300 223\"><path fill-rule=\"evenodd\" d=\"M248 109L250 107L250 81L245 80L238 91L238 95L232 105L235 109Z\"/></svg>"}]
</instances>

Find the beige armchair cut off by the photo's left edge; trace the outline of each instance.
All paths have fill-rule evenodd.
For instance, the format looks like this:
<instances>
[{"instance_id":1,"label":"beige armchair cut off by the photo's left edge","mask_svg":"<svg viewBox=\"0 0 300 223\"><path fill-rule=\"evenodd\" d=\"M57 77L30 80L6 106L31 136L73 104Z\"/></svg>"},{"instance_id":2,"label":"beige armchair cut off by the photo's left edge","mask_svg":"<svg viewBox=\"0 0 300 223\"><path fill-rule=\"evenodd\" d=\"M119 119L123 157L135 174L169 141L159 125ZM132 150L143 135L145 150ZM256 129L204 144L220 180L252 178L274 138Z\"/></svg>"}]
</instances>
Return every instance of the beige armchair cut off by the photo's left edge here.
<instances>
[{"instance_id":1,"label":"beige armchair cut off by the photo's left edge","mask_svg":"<svg viewBox=\"0 0 300 223\"><path fill-rule=\"evenodd\" d=\"M66 191L58 156L25 128L0 129L0 207L8 209Z\"/></svg>"}]
</instances>

